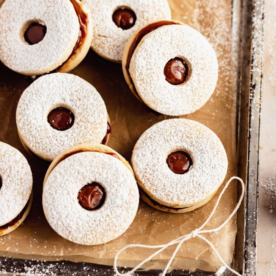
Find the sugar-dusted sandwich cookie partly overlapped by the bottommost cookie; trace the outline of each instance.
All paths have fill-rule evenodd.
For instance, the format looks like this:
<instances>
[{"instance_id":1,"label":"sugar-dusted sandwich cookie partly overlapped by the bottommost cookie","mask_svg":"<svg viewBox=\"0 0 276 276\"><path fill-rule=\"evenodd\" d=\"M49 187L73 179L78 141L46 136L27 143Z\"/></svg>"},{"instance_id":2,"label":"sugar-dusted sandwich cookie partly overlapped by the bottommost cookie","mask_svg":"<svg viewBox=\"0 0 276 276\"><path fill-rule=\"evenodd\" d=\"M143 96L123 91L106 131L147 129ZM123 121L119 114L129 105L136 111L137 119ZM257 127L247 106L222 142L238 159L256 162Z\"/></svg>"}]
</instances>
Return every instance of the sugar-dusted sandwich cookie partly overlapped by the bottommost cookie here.
<instances>
[{"instance_id":1,"label":"sugar-dusted sandwich cookie partly overlapped by the bottommost cookie","mask_svg":"<svg viewBox=\"0 0 276 276\"><path fill-rule=\"evenodd\" d=\"M16 112L25 149L46 161L82 143L107 143L110 124L103 99L82 78L53 73L34 81Z\"/></svg>"}]
</instances>

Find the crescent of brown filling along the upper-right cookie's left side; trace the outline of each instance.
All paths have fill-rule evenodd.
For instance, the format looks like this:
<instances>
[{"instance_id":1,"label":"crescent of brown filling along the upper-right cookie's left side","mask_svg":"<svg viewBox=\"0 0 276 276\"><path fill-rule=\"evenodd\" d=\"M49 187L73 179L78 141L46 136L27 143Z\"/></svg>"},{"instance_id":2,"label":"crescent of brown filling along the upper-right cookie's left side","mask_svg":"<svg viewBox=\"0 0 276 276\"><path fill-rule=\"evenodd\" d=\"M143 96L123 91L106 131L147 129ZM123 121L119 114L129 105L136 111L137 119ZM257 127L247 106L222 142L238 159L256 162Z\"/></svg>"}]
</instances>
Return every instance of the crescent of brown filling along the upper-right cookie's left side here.
<instances>
[{"instance_id":1,"label":"crescent of brown filling along the upper-right cookie's left side","mask_svg":"<svg viewBox=\"0 0 276 276\"><path fill-rule=\"evenodd\" d=\"M135 92L135 95L141 99L141 97L139 96L139 94L137 93L137 90L135 88L135 85L132 81L132 78L129 74L129 64L130 64L130 61L131 61L131 58L132 58L132 55L135 51L135 49L137 48L137 46L139 45L139 43L141 42L141 40L149 33L153 32L154 30L162 27L162 26L165 26L165 25L177 25L179 23L177 22L174 22L174 21L158 21L158 22L155 22L155 23L152 23L152 24L149 24L147 25L145 28L143 28L142 30L139 31L139 33L137 33L137 35L135 36L135 38L133 39L129 49L128 49L128 54L127 54L127 59L126 59L126 64L125 64L125 69L126 69L126 72L129 76L129 78L131 79L131 83L132 83L132 86L133 86L133 89L134 89L134 92ZM141 99L142 100L142 99Z\"/></svg>"}]
</instances>

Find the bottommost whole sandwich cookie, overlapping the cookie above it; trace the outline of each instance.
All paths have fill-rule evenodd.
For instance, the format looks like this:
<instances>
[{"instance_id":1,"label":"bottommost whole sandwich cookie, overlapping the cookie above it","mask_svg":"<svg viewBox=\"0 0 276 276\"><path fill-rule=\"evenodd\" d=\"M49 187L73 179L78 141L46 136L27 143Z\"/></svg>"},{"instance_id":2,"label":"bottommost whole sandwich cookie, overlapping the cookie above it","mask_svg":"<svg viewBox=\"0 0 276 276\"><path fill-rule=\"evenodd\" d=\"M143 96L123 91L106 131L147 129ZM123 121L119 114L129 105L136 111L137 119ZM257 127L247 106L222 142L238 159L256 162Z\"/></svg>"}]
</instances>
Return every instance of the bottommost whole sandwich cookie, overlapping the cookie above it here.
<instances>
[{"instance_id":1,"label":"bottommost whole sandwich cookie, overlapping the cookie above it","mask_svg":"<svg viewBox=\"0 0 276 276\"><path fill-rule=\"evenodd\" d=\"M42 203L59 235L96 245L126 231L137 212L139 191L131 167L118 153L104 145L79 145L49 167Z\"/></svg>"}]
</instances>

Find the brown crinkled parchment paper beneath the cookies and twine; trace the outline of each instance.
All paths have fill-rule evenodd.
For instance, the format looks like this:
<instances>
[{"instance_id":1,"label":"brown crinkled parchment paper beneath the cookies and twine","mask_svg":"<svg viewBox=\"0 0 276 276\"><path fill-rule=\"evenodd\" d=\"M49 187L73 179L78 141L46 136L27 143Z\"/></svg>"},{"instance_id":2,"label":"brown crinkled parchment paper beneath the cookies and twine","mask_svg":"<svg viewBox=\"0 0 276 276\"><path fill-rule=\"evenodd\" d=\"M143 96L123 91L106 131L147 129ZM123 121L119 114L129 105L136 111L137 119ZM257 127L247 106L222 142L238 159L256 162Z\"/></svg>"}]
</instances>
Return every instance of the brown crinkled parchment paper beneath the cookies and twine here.
<instances>
[{"instance_id":1,"label":"brown crinkled parchment paper beneath the cookies and twine","mask_svg":"<svg viewBox=\"0 0 276 276\"><path fill-rule=\"evenodd\" d=\"M0 0L0 5L3 3ZM219 61L219 80L211 99L200 110L184 116L211 128L221 139L229 161L225 182L236 169L235 90L231 53L231 0L170 0L173 19L183 21L203 33L214 47ZM152 112L137 100L126 85L119 65L107 62L89 51L85 60L71 73L79 75L96 87L102 95L111 118L112 135L108 146L129 160L140 135L158 121L169 116ZM112 264L117 250L129 243L163 244L199 227L211 212L216 196L205 206L187 214L168 214L141 202L134 222L119 238L99 246L77 245L60 237L48 225L42 210L42 182L47 166L29 156L22 147L16 128L16 107L20 95L32 82L0 64L0 141L19 149L28 159L34 176L34 202L25 222L12 233L0 237L2 255L27 259L69 259ZM221 190L221 189L220 189ZM223 196L215 218L208 228L219 225L236 204L236 185ZM223 259L230 263L236 234L235 219L218 233L205 235ZM164 268L174 247L156 256L146 267ZM120 265L131 266L152 251L128 250L120 256ZM217 269L221 264L203 241L191 239L184 243L174 261L175 268Z\"/></svg>"}]
</instances>

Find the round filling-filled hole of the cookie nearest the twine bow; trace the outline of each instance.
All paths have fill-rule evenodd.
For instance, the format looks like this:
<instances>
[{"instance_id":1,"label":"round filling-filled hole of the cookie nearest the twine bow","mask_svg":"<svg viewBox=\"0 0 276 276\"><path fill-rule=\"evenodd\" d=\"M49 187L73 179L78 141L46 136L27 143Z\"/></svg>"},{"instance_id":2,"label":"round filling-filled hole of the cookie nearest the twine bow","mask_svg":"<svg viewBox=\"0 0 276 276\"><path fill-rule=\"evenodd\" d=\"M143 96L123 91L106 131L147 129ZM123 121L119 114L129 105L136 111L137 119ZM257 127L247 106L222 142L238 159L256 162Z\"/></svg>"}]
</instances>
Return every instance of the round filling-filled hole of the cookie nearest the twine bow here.
<instances>
[{"instance_id":1,"label":"round filling-filled hole of the cookie nearest the twine bow","mask_svg":"<svg viewBox=\"0 0 276 276\"><path fill-rule=\"evenodd\" d=\"M191 156L184 151L176 151L167 157L167 164L172 172L175 174L185 174L193 166Z\"/></svg>"}]
</instances>

